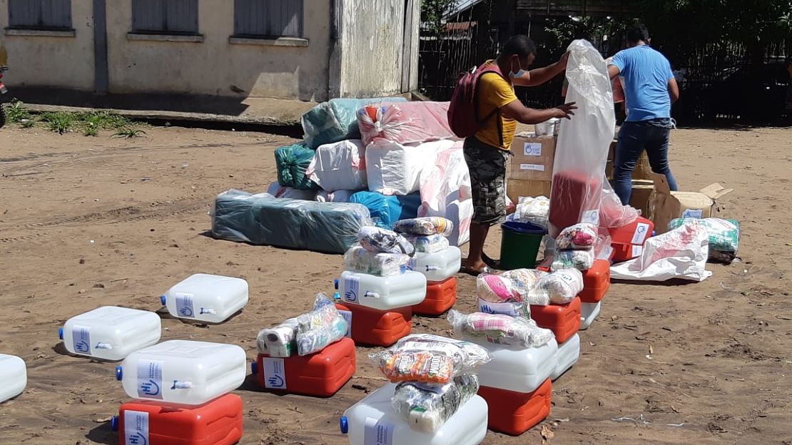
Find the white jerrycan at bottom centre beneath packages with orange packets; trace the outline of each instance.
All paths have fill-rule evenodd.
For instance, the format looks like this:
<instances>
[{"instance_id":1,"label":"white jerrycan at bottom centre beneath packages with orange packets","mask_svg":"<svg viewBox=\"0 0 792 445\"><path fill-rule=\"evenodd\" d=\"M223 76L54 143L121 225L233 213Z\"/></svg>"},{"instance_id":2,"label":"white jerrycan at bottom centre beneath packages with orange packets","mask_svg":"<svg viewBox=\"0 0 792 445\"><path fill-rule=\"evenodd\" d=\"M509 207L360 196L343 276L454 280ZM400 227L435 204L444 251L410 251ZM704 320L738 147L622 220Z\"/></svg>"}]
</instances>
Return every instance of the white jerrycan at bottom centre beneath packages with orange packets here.
<instances>
[{"instance_id":1,"label":"white jerrycan at bottom centre beneath packages with orange packets","mask_svg":"<svg viewBox=\"0 0 792 445\"><path fill-rule=\"evenodd\" d=\"M390 404L396 385L388 383L352 405L341 417L341 432L352 445L478 445L487 434L487 402L470 397L434 434L410 428Z\"/></svg>"}]
</instances>

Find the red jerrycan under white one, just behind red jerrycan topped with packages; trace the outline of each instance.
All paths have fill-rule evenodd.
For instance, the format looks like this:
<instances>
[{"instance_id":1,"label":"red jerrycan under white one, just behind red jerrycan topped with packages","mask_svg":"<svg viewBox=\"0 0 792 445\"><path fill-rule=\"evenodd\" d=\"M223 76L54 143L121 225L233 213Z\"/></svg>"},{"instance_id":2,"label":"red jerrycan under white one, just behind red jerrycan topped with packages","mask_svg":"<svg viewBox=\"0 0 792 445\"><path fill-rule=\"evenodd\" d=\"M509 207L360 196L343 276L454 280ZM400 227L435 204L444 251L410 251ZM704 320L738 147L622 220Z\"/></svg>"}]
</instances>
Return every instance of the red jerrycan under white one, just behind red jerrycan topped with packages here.
<instances>
[{"instance_id":1,"label":"red jerrycan under white one, just behind red jerrycan topped with packages","mask_svg":"<svg viewBox=\"0 0 792 445\"><path fill-rule=\"evenodd\" d=\"M356 344L390 346L413 329L413 310L409 306L376 310L359 304L336 303L336 307L352 312L352 340Z\"/></svg>"}]
</instances>

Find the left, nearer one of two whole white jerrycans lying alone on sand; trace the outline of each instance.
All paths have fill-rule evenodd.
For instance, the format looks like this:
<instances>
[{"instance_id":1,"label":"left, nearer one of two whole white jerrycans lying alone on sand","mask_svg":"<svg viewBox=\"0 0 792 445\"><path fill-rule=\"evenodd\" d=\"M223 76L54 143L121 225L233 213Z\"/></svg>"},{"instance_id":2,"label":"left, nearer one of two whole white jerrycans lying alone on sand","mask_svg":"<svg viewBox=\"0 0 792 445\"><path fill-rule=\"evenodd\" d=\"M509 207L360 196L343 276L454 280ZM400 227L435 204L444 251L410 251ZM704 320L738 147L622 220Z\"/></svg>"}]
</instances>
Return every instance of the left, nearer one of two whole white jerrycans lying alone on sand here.
<instances>
[{"instance_id":1,"label":"left, nearer one of two whole white jerrycans lying alone on sand","mask_svg":"<svg viewBox=\"0 0 792 445\"><path fill-rule=\"evenodd\" d=\"M117 306L79 314L59 329L68 352L105 360L122 360L131 352L157 344L161 334L159 315Z\"/></svg>"}]
</instances>

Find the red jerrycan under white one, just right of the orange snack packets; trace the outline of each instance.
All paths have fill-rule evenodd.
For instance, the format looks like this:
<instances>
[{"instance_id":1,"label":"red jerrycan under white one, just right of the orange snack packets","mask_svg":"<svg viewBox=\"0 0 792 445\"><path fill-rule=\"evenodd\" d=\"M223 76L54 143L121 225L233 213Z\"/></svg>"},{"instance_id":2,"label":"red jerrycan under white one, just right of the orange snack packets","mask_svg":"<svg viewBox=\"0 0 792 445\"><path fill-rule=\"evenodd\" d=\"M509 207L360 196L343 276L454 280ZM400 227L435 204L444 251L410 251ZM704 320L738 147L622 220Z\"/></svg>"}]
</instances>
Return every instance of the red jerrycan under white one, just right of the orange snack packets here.
<instances>
[{"instance_id":1,"label":"red jerrycan under white one, just right of the orange snack packets","mask_svg":"<svg viewBox=\"0 0 792 445\"><path fill-rule=\"evenodd\" d=\"M550 378L534 392L523 394L482 386L478 395L489 407L489 429L509 435L521 435L550 416L553 386Z\"/></svg>"}]
</instances>

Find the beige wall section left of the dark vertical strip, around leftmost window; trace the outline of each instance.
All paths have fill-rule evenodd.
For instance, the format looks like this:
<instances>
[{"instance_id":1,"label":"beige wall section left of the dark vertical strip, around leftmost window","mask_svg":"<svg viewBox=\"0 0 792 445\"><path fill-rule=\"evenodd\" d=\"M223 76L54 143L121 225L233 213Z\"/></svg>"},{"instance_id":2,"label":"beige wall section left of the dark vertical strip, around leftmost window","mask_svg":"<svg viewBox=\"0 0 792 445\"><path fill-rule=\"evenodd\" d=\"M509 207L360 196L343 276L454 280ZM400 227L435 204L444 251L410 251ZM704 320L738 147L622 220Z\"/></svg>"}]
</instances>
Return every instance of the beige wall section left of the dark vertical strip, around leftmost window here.
<instances>
[{"instance_id":1,"label":"beige wall section left of the dark vertical strip, around leftmost window","mask_svg":"<svg viewBox=\"0 0 792 445\"><path fill-rule=\"evenodd\" d=\"M93 5L74 0L71 7L74 34L29 32L10 35L8 0L0 0L0 44L8 51L13 86L55 86L93 91ZM30 35L40 34L40 35Z\"/></svg>"}]
</instances>

